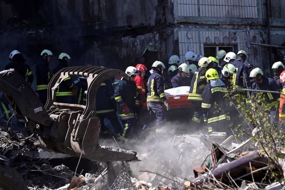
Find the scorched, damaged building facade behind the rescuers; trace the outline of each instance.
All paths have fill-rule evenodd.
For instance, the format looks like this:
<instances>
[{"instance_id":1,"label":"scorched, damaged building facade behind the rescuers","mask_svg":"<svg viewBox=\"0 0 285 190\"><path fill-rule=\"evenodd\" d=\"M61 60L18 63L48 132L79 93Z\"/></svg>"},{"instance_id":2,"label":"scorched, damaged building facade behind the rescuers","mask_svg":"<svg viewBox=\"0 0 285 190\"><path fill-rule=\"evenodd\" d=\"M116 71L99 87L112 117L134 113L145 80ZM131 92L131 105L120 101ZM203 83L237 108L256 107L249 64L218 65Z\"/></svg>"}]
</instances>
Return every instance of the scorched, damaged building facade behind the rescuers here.
<instances>
[{"instance_id":1,"label":"scorched, damaged building facade behind the rescuers","mask_svg":"<svg viewBox=\"0 0 285 190\"><path fill-rule=\"evenodd\" d=\"M245 50L247 63L268 75L282 51L272 47L270 54L252 43L283 45L284 6L284 0L0 1L1 67L13 49L32 68L49 48L56 56L69 53L71 66L122 70L137 62L167 63L174 54L184 62L187 51L215 56L224 49Z\"/></svg>"}]
</instances>

